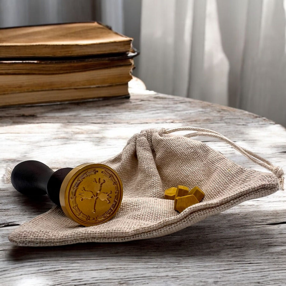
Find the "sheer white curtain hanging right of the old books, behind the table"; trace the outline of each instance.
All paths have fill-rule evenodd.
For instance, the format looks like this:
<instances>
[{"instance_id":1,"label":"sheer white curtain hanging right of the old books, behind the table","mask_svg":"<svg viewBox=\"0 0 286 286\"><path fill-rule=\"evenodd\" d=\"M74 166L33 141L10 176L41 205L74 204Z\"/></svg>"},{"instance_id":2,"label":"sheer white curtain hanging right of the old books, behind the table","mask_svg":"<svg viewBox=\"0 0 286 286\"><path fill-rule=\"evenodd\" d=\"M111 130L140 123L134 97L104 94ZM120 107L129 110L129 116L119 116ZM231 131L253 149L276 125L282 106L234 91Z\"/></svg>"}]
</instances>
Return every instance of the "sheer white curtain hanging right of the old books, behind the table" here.
<instances>
[{"instance_id":1,"label":"sheer white curtain hanging right of the old books, behind the table","mask_svg":"<svg viewBox=\"0 0 286 286\"><path fill-rule=\"evenodd\" d=\"M285 0L142 0L139 77L286 126L285 11Z\"/></svg>"}]
</instances>

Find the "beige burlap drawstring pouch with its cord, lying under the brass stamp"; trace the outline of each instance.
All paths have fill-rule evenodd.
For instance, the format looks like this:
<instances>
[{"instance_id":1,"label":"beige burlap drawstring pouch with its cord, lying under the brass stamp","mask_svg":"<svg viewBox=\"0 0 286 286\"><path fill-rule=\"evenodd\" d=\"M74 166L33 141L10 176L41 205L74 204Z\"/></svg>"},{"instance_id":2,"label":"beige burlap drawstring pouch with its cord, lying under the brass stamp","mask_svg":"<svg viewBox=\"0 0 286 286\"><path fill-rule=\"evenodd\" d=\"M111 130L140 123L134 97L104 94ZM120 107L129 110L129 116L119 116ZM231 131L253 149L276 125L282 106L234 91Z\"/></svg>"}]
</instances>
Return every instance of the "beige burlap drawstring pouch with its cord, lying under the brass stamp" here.
<instances>
[{"instance_id":1,"label":"beige burlap drawstring pouch with its cord, lying under the brass stamp","mask_svg":"<svg viewBox=\"0 0 286 286\"><path fill-rule=\"evenodd\" d=\"M179 130L196 132L185 136L169 134ZM229 143L272 173L246 169L206 144L188 138L198 135ZM123 182L123 201L113 219L82 227L67 218L61 208L54 207L17 228L9 236L10 241L20 246L55 246L154 238L243 201L272 194L279 184L283 186L281 168L217 132L194 127L144 130L133 135L120 154L102 163L115 169ZM177 185L199 186L205 192L203 201L177 213L174 201L164 199L164 190Z\"/></svg>"}]
</instances>

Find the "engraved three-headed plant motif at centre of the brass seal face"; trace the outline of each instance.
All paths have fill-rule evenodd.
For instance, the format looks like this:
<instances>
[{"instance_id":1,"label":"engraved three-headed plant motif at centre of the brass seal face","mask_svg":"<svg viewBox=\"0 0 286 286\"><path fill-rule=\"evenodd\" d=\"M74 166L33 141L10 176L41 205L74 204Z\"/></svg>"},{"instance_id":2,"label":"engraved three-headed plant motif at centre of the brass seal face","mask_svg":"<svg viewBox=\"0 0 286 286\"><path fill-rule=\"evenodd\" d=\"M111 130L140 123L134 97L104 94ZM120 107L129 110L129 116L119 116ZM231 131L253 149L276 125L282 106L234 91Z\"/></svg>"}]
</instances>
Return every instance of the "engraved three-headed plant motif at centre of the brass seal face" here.
<instances>
[{"instance_id":1,"label":"engraved three-headed plant motif at centre of the brass seal face","mask_svg":"<svg viewBox=\"0 0 286 286\"><path fill-rule=\"evenodd\" d=\"M102 185L105 183L105 180L101 180L101 178L98 178L98 180L95 178L93 179L93 182L95 183L94 190L86 190L85 187L82 187L81 192L79 193L80 195L80 201L83 200L92 200L94 199L94 205L93 205L93 213L96 213L96 202L98 199L101 201L106 201L107 204L110 204L110 194L112 191L109 192L102 192ZM98 188L99 187L99 188Z\"/></svg>"}]
</instances>

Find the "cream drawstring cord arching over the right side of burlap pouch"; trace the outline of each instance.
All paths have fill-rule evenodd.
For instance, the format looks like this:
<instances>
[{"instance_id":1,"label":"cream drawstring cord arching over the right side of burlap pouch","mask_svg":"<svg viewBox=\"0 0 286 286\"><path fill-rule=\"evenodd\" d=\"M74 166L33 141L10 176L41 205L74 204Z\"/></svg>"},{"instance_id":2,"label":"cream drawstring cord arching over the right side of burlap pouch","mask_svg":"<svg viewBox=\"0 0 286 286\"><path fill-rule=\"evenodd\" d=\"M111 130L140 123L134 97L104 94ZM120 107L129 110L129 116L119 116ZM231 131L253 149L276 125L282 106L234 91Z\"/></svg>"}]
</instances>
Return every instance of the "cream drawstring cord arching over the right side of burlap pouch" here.
<instances>
[{"instance_id":1,"label":"cream drawstring cord arching over the right side of burlap pouch","mask_svg":"<svg viewBox=\"0 0 286 286\"><path fill-rule=\"evenodd\" d=\"M199 128L199 127L185 127L185 126L183 126L183 127L176 127L176 128L170 128L170 129L162 129L163 133L166 133L166 134L177 132L177 131L186 131L186 130L195 131L193 133L189 133L189 134L184 135L185 137L188 137L188 138L196 137L196 136L209 136L209 137L217 138L219 140L222 140L222 141L228 143L235 150L237 150L242 155L247 157L250 161L252 161L252 162L268 169L269 171L271 171L277 177L277 179L279 181L279 185L282 188L282 190L284 190L284 173L283 173L283 170L281 169L281 167L274 166L270 161L264 159L263 157L260 157L259 155L253 153L252 151L249 151L245 148L238 146L235 142L229 140L228 138L226 138L222 134L215 132L213 130L210 130L210 129L204 129L204 128Z\"/></svg>"}]
</instances>

